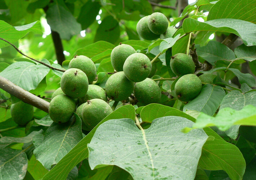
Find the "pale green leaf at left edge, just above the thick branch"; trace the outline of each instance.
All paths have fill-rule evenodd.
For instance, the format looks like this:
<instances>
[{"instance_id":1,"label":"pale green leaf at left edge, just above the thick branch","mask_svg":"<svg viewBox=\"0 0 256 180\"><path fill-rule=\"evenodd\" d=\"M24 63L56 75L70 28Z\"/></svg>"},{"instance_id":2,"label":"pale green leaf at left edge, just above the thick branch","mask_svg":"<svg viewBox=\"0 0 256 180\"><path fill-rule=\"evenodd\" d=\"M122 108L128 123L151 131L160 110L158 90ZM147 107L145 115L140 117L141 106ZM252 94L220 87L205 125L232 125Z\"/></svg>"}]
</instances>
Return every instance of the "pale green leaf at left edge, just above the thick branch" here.
<instances>
[{"instance_id":1,"label":"pale green leaf at left edge, just above the thick branch","mask_svg":"<svg viewBox=\"0 0 256 180\"><path fill-rule=\"evenodd\" d=\"M49 63L47 60L44 62ZM14 62L6 67L6 69L0 73L0 76L10 80L26 91L30 91L38 86L49 73L49 70L49 67L42 64L35 65L31 62ZM40 71L40 73L38 73L38 71Z\"/></svg>"}]
</instances>

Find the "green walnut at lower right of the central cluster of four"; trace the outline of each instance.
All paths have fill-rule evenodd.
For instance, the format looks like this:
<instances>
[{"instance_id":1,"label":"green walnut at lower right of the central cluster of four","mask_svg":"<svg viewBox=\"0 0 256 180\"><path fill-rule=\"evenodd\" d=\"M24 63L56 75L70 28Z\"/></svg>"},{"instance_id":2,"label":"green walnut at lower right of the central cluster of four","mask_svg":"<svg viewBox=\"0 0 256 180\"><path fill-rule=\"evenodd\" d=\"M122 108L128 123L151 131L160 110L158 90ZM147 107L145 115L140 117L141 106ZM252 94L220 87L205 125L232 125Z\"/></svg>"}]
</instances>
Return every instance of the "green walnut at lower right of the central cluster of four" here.
<instances>
[{"instance_id":1,"label":"green walnut at lower right of the central cluster of four","mask_svg":"<svg viewBox=\"0 0 256 180\"><path fill-rule=\"evenodd\" d=\"M154 80L147 78L135 83L134 96L143 105L158 103L161 99L161 89Z\"/></svg>"}]
</instances>

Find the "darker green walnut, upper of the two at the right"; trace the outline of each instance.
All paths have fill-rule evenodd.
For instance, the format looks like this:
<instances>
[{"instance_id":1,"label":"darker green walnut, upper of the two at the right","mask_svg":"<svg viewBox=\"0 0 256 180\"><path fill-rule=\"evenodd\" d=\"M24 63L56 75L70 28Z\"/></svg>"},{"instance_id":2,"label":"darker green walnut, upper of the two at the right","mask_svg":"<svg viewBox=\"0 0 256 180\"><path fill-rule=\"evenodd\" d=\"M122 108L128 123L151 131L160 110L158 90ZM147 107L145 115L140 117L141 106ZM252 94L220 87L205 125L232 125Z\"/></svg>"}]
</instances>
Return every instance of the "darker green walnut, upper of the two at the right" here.
<instances>
[{"instance_id":1,"label":"darker green walnut, upper of the two at the right","mask_svg":"<svg viewBox=\"0 0 256 180\"><path fill-rule=\"evenodd\" d=\"M195 64L187 54L175 54L170 60L170 67L177 76L195 73Z\"/></svg>"}]
</instances>

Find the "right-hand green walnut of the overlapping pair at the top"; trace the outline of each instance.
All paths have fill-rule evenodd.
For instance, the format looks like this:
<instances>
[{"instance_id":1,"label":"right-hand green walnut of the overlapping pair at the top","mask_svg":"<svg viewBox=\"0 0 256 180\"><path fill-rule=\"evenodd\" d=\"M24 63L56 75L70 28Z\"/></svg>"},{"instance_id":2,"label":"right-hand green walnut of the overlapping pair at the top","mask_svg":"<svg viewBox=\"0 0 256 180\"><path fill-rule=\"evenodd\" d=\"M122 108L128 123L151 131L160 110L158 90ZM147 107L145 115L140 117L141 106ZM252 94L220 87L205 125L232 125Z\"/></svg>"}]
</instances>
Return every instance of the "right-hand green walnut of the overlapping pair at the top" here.
<instances>
[{"instance_id":1,"label":"right-hand green walnut of the overlapping pair at the top","mask_svg":"<svg viewBox=\"0 0 256 180\"><path fill-rule=\"evenodd\" d=\"M168 28L168 19L162 13L153 13L148 17L148 27L155 34L163 34Z\"/></svg>"}]
</instances>

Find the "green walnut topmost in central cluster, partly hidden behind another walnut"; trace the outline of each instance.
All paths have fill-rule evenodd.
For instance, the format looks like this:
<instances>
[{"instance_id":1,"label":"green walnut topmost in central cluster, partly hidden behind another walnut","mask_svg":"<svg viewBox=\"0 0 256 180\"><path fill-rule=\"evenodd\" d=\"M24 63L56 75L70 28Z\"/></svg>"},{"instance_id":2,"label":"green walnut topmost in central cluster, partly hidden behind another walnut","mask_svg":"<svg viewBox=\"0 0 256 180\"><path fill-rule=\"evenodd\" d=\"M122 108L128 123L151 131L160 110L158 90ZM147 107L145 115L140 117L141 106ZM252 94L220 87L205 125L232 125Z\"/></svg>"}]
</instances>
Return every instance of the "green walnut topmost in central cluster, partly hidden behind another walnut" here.
<instances>
[{"instance_id":1,"label":"green walnut topmost in central cluster, partly hidden behind another walnut","mask_svg":"<svg viewBox=\"0 0 256 180\"><path fill-rule=\"evenodd\" d=\"M136 51L133 47L120 43L120 45L112 50L110 55L111 64L114 69L116 71L123 71L123 64L125 63L126 58L134 53L136 53Z\"/></svg>"}]
</instances>

